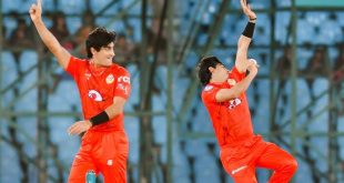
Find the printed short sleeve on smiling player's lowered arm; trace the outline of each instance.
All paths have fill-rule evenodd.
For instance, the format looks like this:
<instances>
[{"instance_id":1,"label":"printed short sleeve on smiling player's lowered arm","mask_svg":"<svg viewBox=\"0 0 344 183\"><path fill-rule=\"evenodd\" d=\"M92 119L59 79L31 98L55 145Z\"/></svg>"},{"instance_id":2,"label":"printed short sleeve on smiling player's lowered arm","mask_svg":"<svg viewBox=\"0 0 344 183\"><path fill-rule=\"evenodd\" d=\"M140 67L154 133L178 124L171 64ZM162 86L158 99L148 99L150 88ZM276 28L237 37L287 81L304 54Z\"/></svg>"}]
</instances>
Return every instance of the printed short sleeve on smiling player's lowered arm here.
<instances>
[{"instance_id":1,"label":"printed short sleeve on smiling player's lowered arm","mask_svg":"<svg viewBox=\"0 0 344 183\"><path fill-rule=\"evenodd\" d=\"M113 96L121 96L127 100L130 93L130 74L125 69L121 69L120 74L118 74L117 87L114 89Z\"/></svg>"}]
</instances>

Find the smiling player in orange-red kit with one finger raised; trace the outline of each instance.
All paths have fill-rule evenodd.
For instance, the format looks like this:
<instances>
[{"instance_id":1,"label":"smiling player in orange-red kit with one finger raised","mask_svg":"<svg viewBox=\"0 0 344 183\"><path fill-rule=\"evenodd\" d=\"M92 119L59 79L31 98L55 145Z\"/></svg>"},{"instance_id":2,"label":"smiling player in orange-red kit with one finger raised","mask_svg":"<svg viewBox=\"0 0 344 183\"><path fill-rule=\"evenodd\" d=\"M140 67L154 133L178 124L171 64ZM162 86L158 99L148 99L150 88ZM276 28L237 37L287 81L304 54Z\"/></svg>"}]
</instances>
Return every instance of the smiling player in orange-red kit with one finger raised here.
<instances>
[{"instance_id":1,"label":"smiling player in orange-red kit with one finger raised","mask_svg":"<svg viewBox=\"0 0 344 183\"><path fill-rule=\"evenodd\" d=\"M61 47L41 14L42 3L38 0L30 8L31 20L59 64L77 82L84 116L68 129L70 134L85 132L68 182L84 183L90 170L102 173L107 183L127 182L129 142L123 126L123 105L131 87L128 71L112 63L115 32L94 29L85 41L88 59L82 60Z\"/></svg>"}]
</instances>

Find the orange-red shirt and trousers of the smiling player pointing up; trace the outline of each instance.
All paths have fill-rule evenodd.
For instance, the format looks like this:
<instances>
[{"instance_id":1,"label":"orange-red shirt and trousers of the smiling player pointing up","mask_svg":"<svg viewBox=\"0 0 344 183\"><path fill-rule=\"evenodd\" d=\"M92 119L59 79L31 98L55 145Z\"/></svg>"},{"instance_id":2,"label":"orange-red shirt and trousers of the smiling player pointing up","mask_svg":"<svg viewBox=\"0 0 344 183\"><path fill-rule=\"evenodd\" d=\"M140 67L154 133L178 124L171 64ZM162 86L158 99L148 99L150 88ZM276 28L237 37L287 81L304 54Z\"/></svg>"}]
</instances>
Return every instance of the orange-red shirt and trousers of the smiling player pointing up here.
<instances>
[{"instance_id":1,"label":"orange-red shirt and trousers of the smiling player pointing up","mask_svg":"<svg viewBox=\"0 0 344 183\"><path fill-rule=\"evenodd\" d=\"M71 57L65 69L77 82L85 120L113 104L114 96L127 100L131 92L130 74L124 68L112 64L103 72L95 73L91 67L90 61ZM102 173L105 183L127 182L129 142L123 118L121 113L85 132L68 182L84 183L89 170Z\"/></svg>"}]
</instances>

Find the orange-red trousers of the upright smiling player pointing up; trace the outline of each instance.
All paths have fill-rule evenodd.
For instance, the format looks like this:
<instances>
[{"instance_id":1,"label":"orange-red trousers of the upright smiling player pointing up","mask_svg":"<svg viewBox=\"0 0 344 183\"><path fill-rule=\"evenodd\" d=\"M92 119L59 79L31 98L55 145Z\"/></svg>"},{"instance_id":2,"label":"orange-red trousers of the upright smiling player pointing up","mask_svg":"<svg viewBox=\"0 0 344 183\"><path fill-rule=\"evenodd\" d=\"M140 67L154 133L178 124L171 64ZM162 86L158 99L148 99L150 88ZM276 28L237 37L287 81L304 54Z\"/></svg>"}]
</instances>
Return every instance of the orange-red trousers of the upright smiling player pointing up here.
<instances>
[{"instance_id":1,"label":"orange-red trousers of the upright smiling player pointing up","mask_svg":"<svg viewBox=\"0 0 344 183\"><path fill-rule=\"evenodd\" d=\"M124 131L88 131L74 157L69 183L85 183L85 174L93 170L103 174L105 183L127 182L129 142Z\"/></svg>"}]
</instances>

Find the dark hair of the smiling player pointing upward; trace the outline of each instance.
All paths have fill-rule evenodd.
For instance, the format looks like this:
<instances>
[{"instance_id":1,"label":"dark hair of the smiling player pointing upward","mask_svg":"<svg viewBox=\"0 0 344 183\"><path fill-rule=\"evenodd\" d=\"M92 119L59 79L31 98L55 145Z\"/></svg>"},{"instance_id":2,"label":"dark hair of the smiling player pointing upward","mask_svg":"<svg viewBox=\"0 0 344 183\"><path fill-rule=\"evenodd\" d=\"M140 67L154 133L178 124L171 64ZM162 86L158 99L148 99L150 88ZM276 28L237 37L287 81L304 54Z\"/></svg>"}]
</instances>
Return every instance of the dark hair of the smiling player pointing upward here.
<instances>
[{"instance_id":1,"label":"dark hair of the smiling player pointing upward","mask_svg":"<svg viewBox=\"0 0 344 183\"><path fill-rule=\"evenodd\" d=\"M100 51L102 47L115 41L115 32L108 31L105 28L95 28L85 41L88 58L92 58L91 48Z\"/></svg>"}]
</instances>

